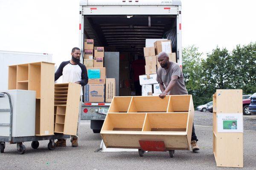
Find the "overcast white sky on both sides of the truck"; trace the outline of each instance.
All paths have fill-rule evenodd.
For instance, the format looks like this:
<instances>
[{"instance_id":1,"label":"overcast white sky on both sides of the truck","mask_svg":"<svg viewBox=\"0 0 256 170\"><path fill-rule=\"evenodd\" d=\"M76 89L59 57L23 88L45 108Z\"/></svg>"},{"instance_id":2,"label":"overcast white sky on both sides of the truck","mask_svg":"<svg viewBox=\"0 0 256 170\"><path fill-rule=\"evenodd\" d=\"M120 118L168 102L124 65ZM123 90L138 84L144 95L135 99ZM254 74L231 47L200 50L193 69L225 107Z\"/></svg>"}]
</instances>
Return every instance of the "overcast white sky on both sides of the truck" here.
<instances>
[{"instance_id":1,"label":"overcast white sky on both sides of the truck","mask_svg":"<svg viewBox=\"0 0 256 170\"><path fill-rule=\"evenodd\" d=\"M79 44L80 0L0 0L0 50L70 59ZM182 44L201 52L256 41L256 0L182 0Z\"/></svg>"}]
</instances>

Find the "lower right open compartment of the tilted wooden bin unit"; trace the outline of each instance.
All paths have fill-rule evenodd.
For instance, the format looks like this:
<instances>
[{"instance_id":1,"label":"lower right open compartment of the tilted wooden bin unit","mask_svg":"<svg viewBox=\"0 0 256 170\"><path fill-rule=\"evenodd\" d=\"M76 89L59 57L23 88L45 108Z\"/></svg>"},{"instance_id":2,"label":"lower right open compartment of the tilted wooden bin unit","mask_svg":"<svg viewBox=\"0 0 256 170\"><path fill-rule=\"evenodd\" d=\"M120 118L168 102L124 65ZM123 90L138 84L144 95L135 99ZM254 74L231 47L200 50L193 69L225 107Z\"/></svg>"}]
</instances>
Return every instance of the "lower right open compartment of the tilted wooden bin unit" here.
<instances>
[{"instance_id":1,"label":"lower right open compartment of the tilted wooden bin unit","mask_svg":"<svg viewBox=\"0 0 256 170\"><path fill-rule=\"evenodd\" d=\"M147 113L143 131L186 132L188 112Z\"/></svg>"}]
</instances>

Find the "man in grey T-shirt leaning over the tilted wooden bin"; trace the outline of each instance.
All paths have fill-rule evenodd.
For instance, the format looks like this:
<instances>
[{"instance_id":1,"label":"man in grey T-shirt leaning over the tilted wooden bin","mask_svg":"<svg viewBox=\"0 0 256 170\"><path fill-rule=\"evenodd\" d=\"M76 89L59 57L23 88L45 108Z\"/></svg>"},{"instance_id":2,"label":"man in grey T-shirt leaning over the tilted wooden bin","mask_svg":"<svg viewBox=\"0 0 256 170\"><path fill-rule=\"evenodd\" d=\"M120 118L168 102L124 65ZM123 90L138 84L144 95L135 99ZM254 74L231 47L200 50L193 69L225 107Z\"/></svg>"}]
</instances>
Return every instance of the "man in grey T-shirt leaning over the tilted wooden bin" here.
<instances>
[{"instance_id":1,"label":"man in grey T-shirt leaning over the tilted wooden bin","mask_svg":"<svg viewBox=\"0 0 256 170\"><path fill-rule=\"evenodd\" d=\"M180 66L177 63L169 61L169 56L166 52L160 52L157 60L161 66L157 69L157 81L162 92L159 97L164 98L166 95L187 95L188 92ZM197 141L193 124L191 136L192 151L199 150Z\"/></svg>"}]
</instances>

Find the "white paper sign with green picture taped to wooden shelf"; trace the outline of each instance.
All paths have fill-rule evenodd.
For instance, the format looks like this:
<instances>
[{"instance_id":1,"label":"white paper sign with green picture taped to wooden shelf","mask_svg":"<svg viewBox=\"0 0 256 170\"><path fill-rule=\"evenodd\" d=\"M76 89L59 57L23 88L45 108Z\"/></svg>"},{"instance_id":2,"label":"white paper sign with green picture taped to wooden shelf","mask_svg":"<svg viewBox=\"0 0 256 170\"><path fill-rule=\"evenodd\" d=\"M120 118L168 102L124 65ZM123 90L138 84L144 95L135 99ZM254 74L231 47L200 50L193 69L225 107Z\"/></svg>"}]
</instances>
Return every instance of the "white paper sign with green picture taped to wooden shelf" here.
<instances>
[{"instance_id":1,"label":"white paper sign with green picture taped to wooden shelf","mask_svg":"<svg viewBox=\"0 0 256 170\"><path fill-rule=\"evenodd\" d=\"M243 132L243 113L218 113L218 132Z\"/></svg>"}]
</instances>

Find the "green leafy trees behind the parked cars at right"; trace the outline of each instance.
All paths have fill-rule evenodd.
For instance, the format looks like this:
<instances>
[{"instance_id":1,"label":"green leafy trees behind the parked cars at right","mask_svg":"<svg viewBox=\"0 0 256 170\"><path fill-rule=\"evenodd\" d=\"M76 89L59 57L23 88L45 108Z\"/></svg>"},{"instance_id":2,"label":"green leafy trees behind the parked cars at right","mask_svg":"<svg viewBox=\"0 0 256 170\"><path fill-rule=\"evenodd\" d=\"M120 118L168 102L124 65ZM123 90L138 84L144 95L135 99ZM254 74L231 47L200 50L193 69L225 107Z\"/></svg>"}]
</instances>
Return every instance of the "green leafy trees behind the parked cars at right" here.
<instances>
[{"instance_id":1,"label":"green leafy trees behind the parked cars at right","mask_svg":"<svg viewBox=\"0 0 256 170\"><path fill-rule=\"evenodd\" d=\"M256 92L256 43L237 45L232 52L218 46L202 58L195 46L183 49L183 74L194 106L212 101L216 89Z\"/></svg>"}]
</instances>

